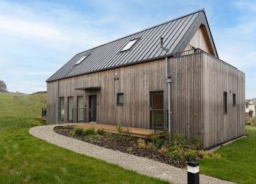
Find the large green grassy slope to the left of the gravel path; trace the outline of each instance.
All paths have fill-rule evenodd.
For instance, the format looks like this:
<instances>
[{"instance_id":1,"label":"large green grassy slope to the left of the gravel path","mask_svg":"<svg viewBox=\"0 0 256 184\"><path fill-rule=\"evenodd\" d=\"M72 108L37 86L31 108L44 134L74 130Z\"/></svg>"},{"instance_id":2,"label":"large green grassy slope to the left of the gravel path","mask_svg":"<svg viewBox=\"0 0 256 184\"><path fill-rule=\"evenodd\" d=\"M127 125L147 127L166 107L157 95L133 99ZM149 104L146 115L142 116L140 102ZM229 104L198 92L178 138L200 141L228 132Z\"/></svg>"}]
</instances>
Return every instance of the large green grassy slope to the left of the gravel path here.
<instances>
[{"instance_id":1,"label":"large green grassy slope to the left of the gravel path","mask_svg":"<svg viewBox=\"0 0 256 184\"><path fill-rule=\"evenodd\" d=\"M166 183L32 137L42 106L45 94L0 93L0 183Z\"/></svg>"}]
</instances>

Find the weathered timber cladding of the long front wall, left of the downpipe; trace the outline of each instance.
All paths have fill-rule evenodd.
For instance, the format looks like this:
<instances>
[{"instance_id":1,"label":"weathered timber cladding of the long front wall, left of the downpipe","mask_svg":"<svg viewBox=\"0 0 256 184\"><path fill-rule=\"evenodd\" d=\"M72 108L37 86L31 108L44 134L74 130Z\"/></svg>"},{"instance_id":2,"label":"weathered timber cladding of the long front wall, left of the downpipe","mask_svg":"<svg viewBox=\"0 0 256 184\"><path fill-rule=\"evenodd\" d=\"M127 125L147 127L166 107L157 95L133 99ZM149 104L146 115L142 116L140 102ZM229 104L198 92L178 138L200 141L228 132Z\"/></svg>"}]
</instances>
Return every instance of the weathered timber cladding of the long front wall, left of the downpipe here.
<instances>
[{"instance_id":1,"label":"weathered timber cladding of the long front wall, left of the downpipe","mask_svg":"<svg viewBox=\"0 0 256 184\"><path fill-rule=\"evenodd\" d=\"M47 94L56 98L52 83L55 81L47 83ZM74 100L74 122L77 122L77 97L84 97L86 122L89 122L89 95L96 94L97 123L150 128L150 91L164 90L164 99L167 99L166 85L164 59L61 79L59 91L60 97L65 97L64 122L67 122L67 97ZM75 90L79 87L101 87L101 90ZM117 106L118 93L124 93L123 106ZM50 109L56 109L55 98L53 102L48 101L55 103ZM164 103L164 109L167 109L167 100Z\"/></svg>"}]
</instances>

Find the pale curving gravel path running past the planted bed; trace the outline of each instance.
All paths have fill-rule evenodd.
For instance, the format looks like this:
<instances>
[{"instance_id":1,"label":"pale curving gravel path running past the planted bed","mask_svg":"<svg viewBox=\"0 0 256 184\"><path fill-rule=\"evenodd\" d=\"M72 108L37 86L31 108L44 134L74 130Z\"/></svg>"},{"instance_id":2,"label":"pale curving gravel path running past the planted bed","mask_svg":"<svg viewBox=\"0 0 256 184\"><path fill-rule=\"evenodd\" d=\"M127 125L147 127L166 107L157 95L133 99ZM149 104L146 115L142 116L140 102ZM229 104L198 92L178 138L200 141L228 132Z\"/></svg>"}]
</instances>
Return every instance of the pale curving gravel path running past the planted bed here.
<instances>
[{"instance_id":1,"label":"pale curving gravel path running past the planted bed","mask_svg":"<svg viewBox=\"0 0 256 184\"><path fill-rule=\"evenodd\" d=\"M70 125L70 124L62 124ZM74 123L72 124L74 125ZM69 138L53 132L57 125L36 126L29 129L29 133L36 138L56 144L59 147L66 148L79 154L85 154L89 157L96 157L109 163L117 164L125 169L134 170L147 176L153 176L167 180L173 183L187 183L186 170L172 167L166 163L160 163L145 157L137 157L131 154L125 154L120 151L113 151L102 148L94 144ZM209 176L200 175L200 183L232 183Z\"/></svg>"}]
</instances>

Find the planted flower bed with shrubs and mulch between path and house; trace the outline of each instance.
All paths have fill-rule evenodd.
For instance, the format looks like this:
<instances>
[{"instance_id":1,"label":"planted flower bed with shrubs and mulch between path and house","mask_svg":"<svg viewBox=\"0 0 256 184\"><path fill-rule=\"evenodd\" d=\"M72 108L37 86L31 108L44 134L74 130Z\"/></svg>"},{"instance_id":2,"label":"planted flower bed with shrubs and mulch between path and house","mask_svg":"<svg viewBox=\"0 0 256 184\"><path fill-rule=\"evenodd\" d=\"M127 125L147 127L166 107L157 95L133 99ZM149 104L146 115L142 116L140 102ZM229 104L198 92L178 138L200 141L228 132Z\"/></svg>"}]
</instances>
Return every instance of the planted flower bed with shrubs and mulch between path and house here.
<instances>
[{"instance_id":1,"label":"planted flower bed with shrubs and mulch between path and house","mask_svg":"<svg viewBox=\"0 0 256 184\"><path fill-rule=\"evenodd\" d=\"M119 130L121 128L118 128ZM169 144L168 138L152 136L152 138L138 138L131 135L123 135L105 132L104 129L83 128L83 127L55 127L54 131L76 138L81 141L96 144L104 148L115 151L122 151L128 154L134 154L138 157L147 157L162 163L167 163L175 167L183 168L188 160L199 160L203 157L219 157L218 154L199 150L199 145L188 144L185 136L180 134L173 135L172 144Z\"/></svg>"}]
</instances>

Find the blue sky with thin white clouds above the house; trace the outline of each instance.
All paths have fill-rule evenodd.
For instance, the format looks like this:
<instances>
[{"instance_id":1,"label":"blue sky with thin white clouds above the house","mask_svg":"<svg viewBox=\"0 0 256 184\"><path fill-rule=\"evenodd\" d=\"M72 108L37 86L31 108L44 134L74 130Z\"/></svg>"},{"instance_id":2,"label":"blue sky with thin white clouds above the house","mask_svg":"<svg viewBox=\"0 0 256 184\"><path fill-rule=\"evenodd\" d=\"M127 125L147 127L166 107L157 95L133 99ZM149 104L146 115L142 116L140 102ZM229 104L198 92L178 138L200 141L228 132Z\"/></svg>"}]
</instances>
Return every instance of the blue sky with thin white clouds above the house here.
<instances>
[{"instance_id":1,"label":"blue sky with thin white clouds above the house","mask_svg":"<svg viewBox=\"0 0 256 184\"><path fill-rule=\"evenodd\" d=\"M8 90L46 90L77 52L206 9L220 59L245 72L256 97L256 1L1 1L0 79Z\"/></svg>"}]
</instances>

